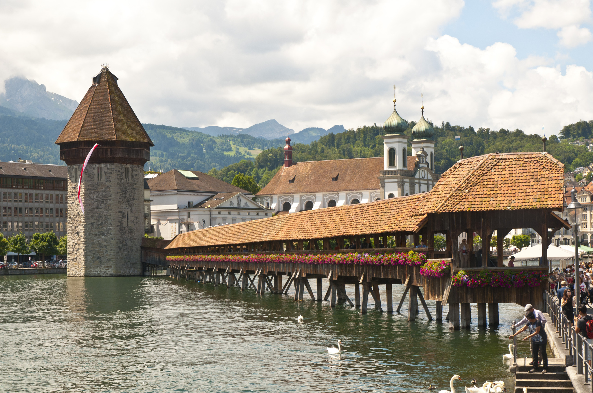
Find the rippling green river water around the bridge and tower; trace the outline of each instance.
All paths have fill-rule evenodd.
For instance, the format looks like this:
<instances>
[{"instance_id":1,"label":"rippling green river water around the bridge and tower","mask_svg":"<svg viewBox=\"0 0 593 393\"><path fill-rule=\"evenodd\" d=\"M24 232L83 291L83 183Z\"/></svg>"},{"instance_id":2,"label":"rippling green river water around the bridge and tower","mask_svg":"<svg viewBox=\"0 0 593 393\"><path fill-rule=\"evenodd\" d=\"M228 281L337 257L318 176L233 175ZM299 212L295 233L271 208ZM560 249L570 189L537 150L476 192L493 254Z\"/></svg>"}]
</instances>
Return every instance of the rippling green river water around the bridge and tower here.
<instances>
[{"instance_id":1,"label":"rippling green river water around the bridge and tower","mask_svg":"<svg viewBox=\"0 0 593 393\"><path fill-rule=\"evenodd\" d=\"M394 285L395 307L402 292ZM449 331L422 307L408 322L407 302L401 314L371 303L361 315L164 276L0 276L0 294L0 391L11 393L428 392L454 374L457 391L472 378L509 388L502 354L522 314L500 304L500 326L482 330L474 305L471 330ZM337 339L344 350L329 355ZM520 342L518 354L528 352Z\"/></svg>"}]
</instances>

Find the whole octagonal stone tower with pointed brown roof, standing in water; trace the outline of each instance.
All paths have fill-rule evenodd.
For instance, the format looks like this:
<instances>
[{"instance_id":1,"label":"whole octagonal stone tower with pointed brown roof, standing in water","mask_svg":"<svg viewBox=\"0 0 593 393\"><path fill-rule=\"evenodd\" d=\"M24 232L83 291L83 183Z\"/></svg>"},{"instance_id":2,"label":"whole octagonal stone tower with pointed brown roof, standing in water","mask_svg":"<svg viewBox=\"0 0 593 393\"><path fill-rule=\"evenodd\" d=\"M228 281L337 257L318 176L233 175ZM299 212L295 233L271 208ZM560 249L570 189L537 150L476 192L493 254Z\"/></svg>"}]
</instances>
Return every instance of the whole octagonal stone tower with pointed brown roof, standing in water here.
<instances>
[{"instance_id":1,"label":"whole octagonal stone tower with pointed brown roof, standing in water","mask_svg":"<svg viewBox=\"0 0 593 393\"><path fill-rule=\"evenodd\" d=\"M95 149L78 179L85 157ZM56 140L68 165L68 276L142 274L144 164L151 138L117 86L109 66L93 84Z\"/></svg>"}]
</instances>

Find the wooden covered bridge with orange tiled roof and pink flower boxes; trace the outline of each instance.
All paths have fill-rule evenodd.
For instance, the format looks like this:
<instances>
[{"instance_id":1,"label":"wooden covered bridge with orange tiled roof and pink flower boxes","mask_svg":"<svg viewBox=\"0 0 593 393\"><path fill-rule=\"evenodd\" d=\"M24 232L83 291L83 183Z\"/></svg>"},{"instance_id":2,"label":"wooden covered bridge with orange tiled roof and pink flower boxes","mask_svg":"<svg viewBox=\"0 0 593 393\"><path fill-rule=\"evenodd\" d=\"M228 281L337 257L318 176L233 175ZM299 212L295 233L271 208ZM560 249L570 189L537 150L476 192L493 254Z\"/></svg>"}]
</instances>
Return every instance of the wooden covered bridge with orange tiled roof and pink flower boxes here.
<instances>
[{"instance_id":1,"label":"wooden covered bridge with orange tiled roof and pink flower boxes","mask_svg":"<svg viewBox=\"0 0 593 393\"><path fill-rule=\"evenodd\" d=\"M478 304L479 324L486 324L489 304L489 323L496 325L499 303L542 304L547 286L543 277L548 270L545 252L541 267L505 268L499 253L498 266L488 268L486 252L482 263L473 258L461 261L458 236L467 233L471 243L471 234L479 233L483 249L489 250L493 231L497 230L498 249L502 249L503 236L512 228L533 228L547 249L555 231L569 228L554 214L563 210L563 167L545 152L471 157L455 163L431 191L423 194L190 231L177 235L165 247L146 243L142 260L146 266L167 263L177 278L237 285L241 290L256 286L251 278L254 275L258 293L286 293L295 285L295 300L302 299L306 289L312 299L331 297L334 306L336 299L342 298L353 307L361 307L362 313L366 313L369 294L382 311L380 285L386 286L387 311L393 312L391 286L403 284L410 320L416 318L418 298L432 319L419 289L423 286L424 297L436 301L437 320L442 320L442 304L448 304L450 328L469 326L473 302ZM447 238L445 251L433 248L437 233ZM428 247L406 247L410 235L415 246L422 238ZM356 246L356 250L346 250L346 245ZM447 261L449 270L441 277L423 276L422 261L413 260L410 250L426 253L429 262ZM482 281L481 285L455 281L453 276L459 270L466 272L466 278L505 273L507 286L493 281ZM537 273L540 278L531 286L515 281L508 287L511 277L533 278ZM316 280L316 291L309 279ZM323 279L330 284L325 295L321 293ZM355 302L347 297L345 285L355 286Z\"/></svg>"}]
</instances>

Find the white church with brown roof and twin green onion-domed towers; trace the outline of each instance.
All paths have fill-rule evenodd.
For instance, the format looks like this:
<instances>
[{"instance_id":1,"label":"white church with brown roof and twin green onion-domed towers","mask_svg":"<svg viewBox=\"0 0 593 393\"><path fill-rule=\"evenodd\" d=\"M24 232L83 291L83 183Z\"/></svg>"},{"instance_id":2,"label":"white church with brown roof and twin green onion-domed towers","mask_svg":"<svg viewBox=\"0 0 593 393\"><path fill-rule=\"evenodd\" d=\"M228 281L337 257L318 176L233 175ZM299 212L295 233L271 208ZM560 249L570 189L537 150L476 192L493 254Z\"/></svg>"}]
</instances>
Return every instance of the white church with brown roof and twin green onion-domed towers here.
<instances>
[{"instance_id":1,"label":"white church with brown roof and twin green onion-domed towers","mask_svg":"<svg viewBox=\"0 0 593 393\"><path fill-rule=\"evenodd\" d=\"M287 214L431 190L438 176L434 172L435 142L431 139L434 130L424 118L424 107L412 130L412 156L407 154L407 123L395 104L383 127L384 157L292 163L291 139L286 138L284 166L257 193L257 201Z\"/></svg>"}]
</instances>

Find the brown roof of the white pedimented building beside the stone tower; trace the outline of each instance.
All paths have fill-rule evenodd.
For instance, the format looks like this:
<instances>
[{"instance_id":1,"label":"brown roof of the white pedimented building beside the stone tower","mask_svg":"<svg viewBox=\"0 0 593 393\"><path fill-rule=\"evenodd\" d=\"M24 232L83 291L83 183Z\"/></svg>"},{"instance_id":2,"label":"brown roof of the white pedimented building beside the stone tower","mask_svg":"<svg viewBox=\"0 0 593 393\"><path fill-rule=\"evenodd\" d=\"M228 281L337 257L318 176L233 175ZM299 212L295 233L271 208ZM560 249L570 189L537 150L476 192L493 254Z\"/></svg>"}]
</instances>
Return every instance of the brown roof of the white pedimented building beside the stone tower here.
<instances>
[{"instance_id":1,"label":"brown roof of the white pedimented building beside the stone tower","mask_svg":"<svg viewBox=\"0 0 593 393\"><path fill-rule=\"evenodd\" d=\"M188 179L177 169L158 175L156 178L146 179L151 191L201 191L201 192L242 192L251 195L250 191L235 187L232 184L206 175L198 170L190 170L198 179Z\"/></svg>"}]
</instances>

